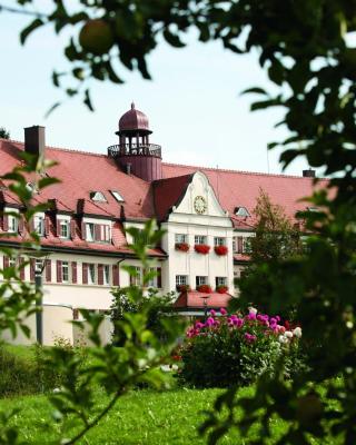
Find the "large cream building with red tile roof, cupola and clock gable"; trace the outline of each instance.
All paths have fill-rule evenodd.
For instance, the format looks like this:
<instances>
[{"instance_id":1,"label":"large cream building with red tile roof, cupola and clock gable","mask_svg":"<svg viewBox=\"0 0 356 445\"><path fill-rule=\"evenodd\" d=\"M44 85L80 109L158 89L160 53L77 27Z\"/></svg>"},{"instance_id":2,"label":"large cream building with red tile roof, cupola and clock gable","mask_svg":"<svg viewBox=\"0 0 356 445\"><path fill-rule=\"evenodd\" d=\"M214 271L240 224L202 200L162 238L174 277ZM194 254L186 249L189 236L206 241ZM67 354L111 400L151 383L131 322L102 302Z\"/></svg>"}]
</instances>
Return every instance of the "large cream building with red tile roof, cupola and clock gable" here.
<instances>
[{"instance_id":1,"label":"large cream building with red tile roof, cupola and clock gable","mask_svg":"<svg viewBox=\"0 0 356 445\"><path fill-rule=\"evenodd\" d=\"M50 211L33 218L47 254L42 278L48 304L107 310L112 286L130 284L122 265L141 271L126 228L142 228L156 218L166 234L160 246L149 250L158 273L151 286L162 293L178 289L177 307L186 313L205 303L225 306L235 293L234 277L248 260L244 250L254 236L253 210L260 189L290 218L307 207L299 199L312 192L312 170L296 177L166 164L161 147L150 141L151 132L147 116L132 103L119 120L117 145L106 155L46 147L43 127L26 128L24 142L0 139L0 175L20 162L23 150L57 162L46 175L61 182L40 194L33 190L36 202L52 201ZM23 209L0 182L0 211L8 210ZM1 240L13 247L28 236L13 216L1 217L0 231L17 234ZM9 261L2 258L3 266ZM22 278L33 280L36 267L33 259ZM135 281L139 284L140 276Z\"/></svg>"}]
</instances>

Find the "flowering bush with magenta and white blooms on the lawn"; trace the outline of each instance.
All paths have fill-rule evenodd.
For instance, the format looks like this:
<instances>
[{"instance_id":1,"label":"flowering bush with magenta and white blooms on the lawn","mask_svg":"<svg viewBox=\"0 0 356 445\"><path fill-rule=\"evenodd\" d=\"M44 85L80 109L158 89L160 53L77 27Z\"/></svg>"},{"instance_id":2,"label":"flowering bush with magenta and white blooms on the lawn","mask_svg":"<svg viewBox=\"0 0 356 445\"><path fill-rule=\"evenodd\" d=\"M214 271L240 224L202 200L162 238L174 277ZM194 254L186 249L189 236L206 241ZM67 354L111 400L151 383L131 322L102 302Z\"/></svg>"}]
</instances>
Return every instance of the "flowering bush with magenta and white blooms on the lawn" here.
<instances>
[{"instance_id":1,"label":"flowering bush with magenta and white blooms on the lawn","mask_svg":"<svg viewBox=\"0 0 356 445\"><path fill-rule=\"evenodd\" d=\"M249 385L259 375L273 375L281 354L296 354L301 329L287 330L280 318L256 314L245 317L215 312L205 323L197 322L187 330L181 347L180 379L196 387L228 387ZM290 366L291 367L291 363Z\"/></svg>"}]
</instances>

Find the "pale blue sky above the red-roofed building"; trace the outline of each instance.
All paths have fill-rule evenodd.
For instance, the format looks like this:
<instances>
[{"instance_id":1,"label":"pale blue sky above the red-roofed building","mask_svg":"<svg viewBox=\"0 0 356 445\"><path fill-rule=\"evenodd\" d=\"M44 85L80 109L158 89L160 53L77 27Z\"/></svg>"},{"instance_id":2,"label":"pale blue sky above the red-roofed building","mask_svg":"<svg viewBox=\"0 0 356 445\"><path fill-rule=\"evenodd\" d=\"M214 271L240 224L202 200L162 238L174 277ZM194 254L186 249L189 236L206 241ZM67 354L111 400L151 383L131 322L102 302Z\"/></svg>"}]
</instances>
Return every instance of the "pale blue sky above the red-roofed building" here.
<instances>
[{"instance_id":1,"label":"pale blue sky above the red-roofed building","mask_svg":"<svg viewBox=\"0 0 356 445\"><path fill-rule=\"evenodd\" d=\"M134 100L148 116L150 141L162 147L166 162L281 172L279 151L267 155L268 142L287 136L274 128L281 111L250 112L254 97L240 95L249 87L271 87L256 53L237 56L219 42L199 43L194 34L184 49L162 42L148 58L152 80L121 68L123 86L91 82L95 112L71 99L44 118L50 106L63 99L51 72L67 67L66 33L40 29L21 47L19 32L29 20L0 12L0 127L11 139L23 140L23 127L42 125L49 146L106 154L118 142L119 118ZM307 164L300 159L286 172L300 176L304 168Z\"/></svg>"}]
</instances>

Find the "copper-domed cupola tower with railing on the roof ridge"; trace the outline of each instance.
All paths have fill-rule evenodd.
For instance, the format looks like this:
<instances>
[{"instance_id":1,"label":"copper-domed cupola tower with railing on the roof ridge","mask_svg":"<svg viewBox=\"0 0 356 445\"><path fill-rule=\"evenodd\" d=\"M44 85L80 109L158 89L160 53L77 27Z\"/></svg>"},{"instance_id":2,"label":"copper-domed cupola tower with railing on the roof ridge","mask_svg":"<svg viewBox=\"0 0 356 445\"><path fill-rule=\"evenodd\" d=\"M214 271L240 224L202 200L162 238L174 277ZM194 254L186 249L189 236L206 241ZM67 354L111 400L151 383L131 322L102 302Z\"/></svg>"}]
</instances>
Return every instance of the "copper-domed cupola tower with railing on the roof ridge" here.
<instances>
[{"instance_id":1,"label":"copper-domed cupola tower with railing on the roof ridge","mask_svg":"<svg viewBox=\"0 0 356 445\"><path fill-rule=\"evenodd\" d=\"M119 144L108 148L108 155L117 160L127 172L138 176L146 181L161 179L161 148L149 142L148 117L135 108L121 116L119 120Z\"/></svg>"}]
</instances>

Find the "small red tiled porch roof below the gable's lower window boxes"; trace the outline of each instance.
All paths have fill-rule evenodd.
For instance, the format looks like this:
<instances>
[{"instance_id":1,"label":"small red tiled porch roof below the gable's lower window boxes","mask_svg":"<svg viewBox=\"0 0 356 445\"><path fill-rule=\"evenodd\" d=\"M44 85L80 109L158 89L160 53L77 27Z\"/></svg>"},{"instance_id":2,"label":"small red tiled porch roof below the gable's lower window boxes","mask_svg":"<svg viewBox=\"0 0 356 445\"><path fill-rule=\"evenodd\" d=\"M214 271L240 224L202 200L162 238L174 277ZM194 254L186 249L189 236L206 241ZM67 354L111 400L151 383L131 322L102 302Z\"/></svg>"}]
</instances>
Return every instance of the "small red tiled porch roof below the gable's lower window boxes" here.
<instances>
[{"instance_id":1,"label":"small red tiled porch roof below the gable's lower window boxes","mask_svg":"<svg viewBox=\"0 0 356 445\"><path fill-rule=\"evenodd\" d=\"M196 290L185 291L179 295L177 300L175 301L174 306L177 309L191 309L191 308L200 308L204 309L204 297L208 297L207 299L207 307L209 309L220 307L227 307L229 300L233 298L229 294L219 294L219 293L211 293L211 294L202 294Z\"/></svg>"}]
</instances>

